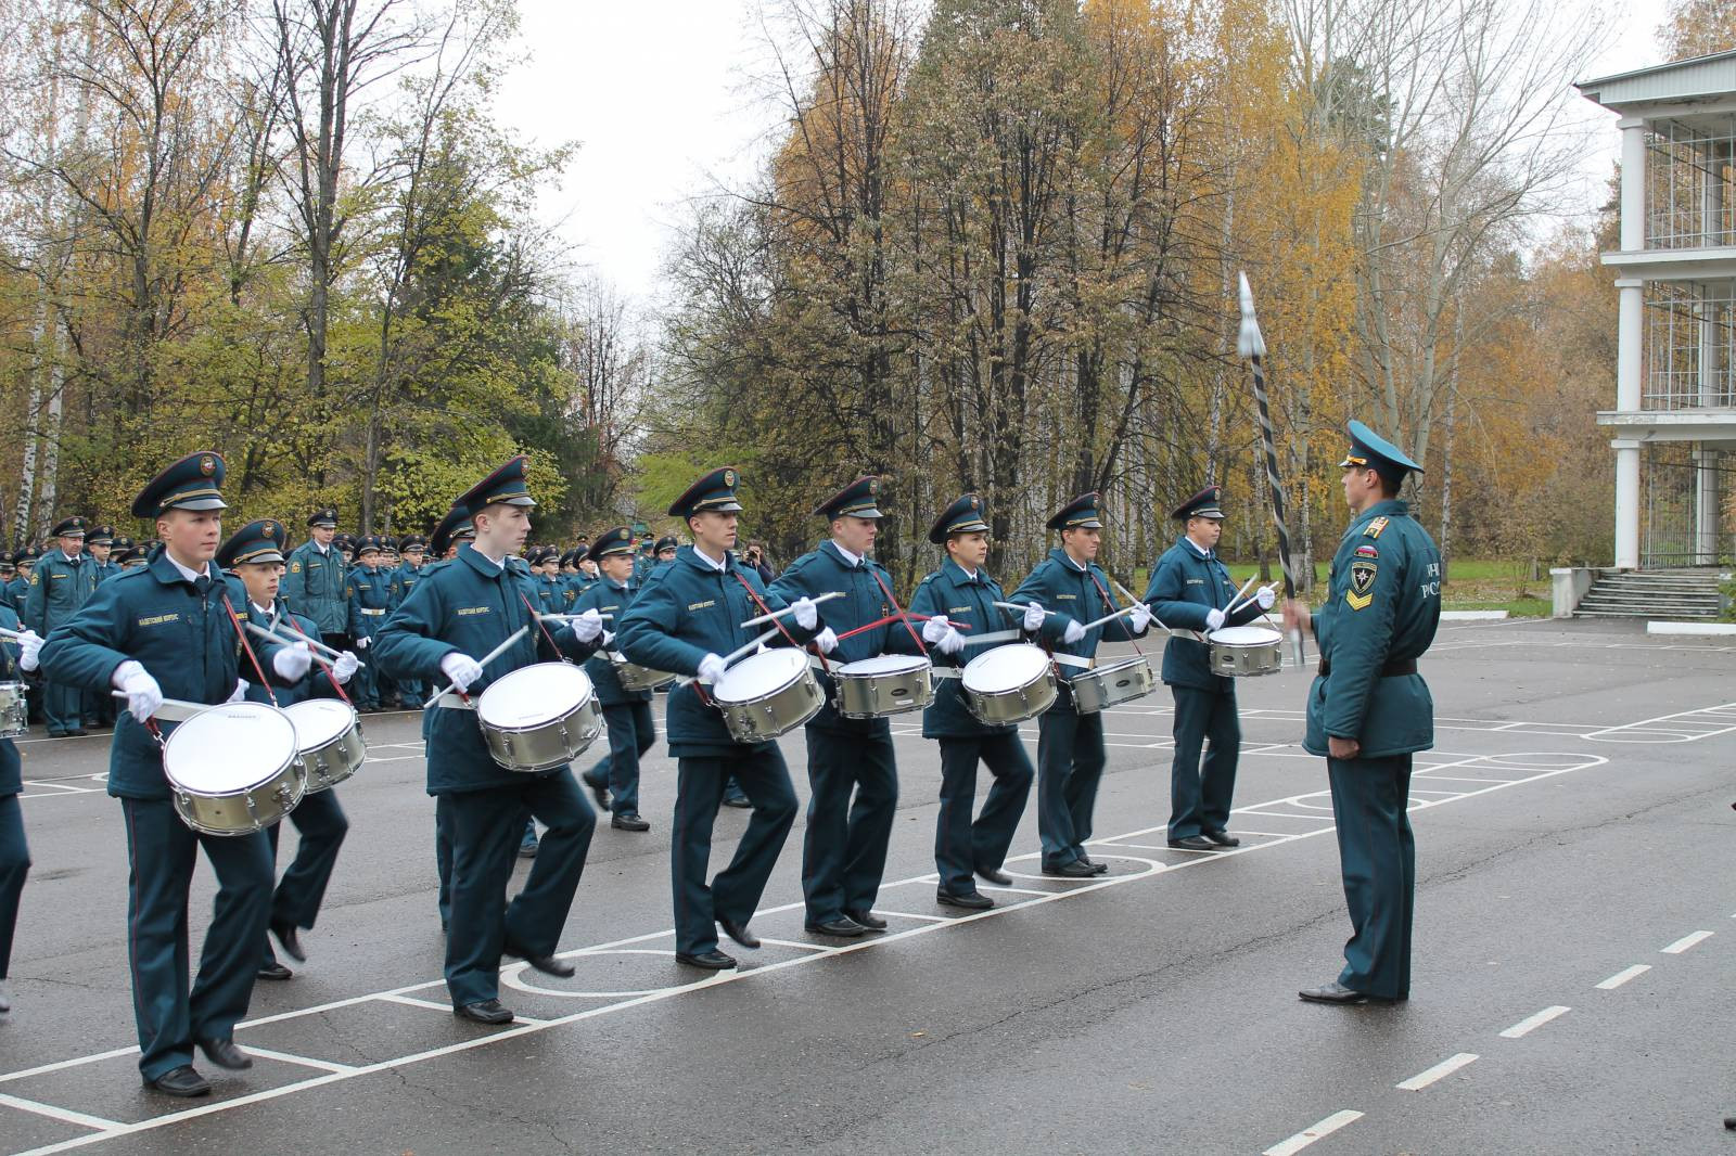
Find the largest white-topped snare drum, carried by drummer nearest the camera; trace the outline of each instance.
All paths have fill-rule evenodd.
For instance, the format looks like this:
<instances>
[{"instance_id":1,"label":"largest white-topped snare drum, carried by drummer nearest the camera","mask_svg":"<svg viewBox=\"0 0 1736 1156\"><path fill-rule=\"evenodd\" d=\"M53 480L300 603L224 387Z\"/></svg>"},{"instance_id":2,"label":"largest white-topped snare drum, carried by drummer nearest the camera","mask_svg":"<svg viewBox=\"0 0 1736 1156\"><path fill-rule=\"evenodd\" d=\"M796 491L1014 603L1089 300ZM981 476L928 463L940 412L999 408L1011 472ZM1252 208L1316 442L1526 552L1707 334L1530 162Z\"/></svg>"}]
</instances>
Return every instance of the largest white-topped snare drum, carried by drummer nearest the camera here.
<instances>
[{"instance_id":1,"label":"largest white-topped snare drum, carried by drummer nearest the camera","mask_svg":"<svg viewBox=\"0 0 1736 1156\"><path fill-rule=\"evenodd\" d=\"M295 724L266 703L224 703L168 732L163 774L175 814L205 835L262 831L302 800Z\"/></svg>"}]
</instances>

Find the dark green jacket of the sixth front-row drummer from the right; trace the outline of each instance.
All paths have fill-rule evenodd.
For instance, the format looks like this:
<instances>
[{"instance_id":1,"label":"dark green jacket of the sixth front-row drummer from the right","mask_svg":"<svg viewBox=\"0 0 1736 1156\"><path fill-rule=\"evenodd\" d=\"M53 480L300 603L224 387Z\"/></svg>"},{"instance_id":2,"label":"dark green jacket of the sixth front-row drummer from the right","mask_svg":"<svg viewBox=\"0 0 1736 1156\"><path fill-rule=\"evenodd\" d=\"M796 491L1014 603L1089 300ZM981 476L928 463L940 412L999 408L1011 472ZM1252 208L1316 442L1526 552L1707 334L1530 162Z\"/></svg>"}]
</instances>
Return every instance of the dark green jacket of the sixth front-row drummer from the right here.
<instances>
[{"instance_id":1,"label":"dark green jacket of the sixth front-row drummer from the right","mask_svg":"<svg viewBox=\"0 0 1736 1156\"><path fill-rule=\"evenodd\" d=\"M531 606L536 606L536 590L524 559L509 557L505 568L496 568L465 543L450 566L425 573L404 604L387 614L368 647L368 661L377 663L387 679L444 687L443 658L464 653L481 661L514 630L531 623ZM469 687L470 701L521 667L561 658L585 661L594 649L573 637L566 623L550 628L549 635L533 623L507 653L483 668L483 677ZM526 781L524 771L507 771L488 753L472 710L431 706L424 712L422 734L427 739L429 795L523 786ZM542 774L557 771L561 767Z\"/></svg>"}]
</instances>

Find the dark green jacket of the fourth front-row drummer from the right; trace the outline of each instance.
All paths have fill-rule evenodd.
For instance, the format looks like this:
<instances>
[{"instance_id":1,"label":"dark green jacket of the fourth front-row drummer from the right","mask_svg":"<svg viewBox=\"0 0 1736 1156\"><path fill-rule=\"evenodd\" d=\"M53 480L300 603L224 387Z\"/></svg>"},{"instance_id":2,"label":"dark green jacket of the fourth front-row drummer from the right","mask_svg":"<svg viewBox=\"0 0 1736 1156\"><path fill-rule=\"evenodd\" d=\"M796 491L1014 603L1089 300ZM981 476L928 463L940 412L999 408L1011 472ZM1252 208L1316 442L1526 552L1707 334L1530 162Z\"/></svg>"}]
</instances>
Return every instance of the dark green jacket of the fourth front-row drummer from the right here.
<instances>
[{"instance_id":1,"label":"dark green jacket of the fourth front-row drummer from the right","mask_svg":"<svg viewBox=\"0 0 1736 1156\"><path fill-rule=\"evenodd\" d=\"M877 581L878 580L878 581ZM838 554L838 547L830 542L819 543L818 550L809 550L778 575L771 583L771 592L793 602L800 597L819 597L837 590L842 599L826 602L826 625L837 634L845 634L856 627L865 627L892 613L892 576L871 557L861 564L851 564ZM922 630L920 623L911 623ZM875 630L866 630L852 639L844 639L838 647L826 656L833 667L875 658L878 654L920 654L915 635L904 623L891 621ZM845 719L837 712L837 687L828 675L819 675L819 684L826 691L826 705L809 720L807 726L842 734L877 734L887 727L885 719Z\"/></svg>"}]
</instances>

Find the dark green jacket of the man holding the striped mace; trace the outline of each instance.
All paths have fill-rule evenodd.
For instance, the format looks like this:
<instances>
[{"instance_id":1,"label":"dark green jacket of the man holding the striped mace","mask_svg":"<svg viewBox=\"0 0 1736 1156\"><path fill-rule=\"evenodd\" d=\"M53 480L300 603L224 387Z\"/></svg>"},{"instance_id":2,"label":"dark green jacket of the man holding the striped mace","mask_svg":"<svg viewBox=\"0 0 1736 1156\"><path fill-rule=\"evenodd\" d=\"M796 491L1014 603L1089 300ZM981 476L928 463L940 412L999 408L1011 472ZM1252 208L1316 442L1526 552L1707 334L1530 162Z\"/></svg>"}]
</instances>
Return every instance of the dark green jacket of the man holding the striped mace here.
<instances>
[{"instance_id":1,"label":"dark green jacket of the man holding the striped mace","mask_svg":"<svg viewBox=\"0 0 1736 1156\"><path fill-rule=\"evenodd\" d=\"M1441 623L1441 552L1399 500L1363 510L1338 542L1314 639L1330 673L1307 696L1311 755L1326 738L1354 738L1361 755L1434 746L1434 698L1420 673L1382 675L1420 658Z\"/></svg>"}]
</instances>

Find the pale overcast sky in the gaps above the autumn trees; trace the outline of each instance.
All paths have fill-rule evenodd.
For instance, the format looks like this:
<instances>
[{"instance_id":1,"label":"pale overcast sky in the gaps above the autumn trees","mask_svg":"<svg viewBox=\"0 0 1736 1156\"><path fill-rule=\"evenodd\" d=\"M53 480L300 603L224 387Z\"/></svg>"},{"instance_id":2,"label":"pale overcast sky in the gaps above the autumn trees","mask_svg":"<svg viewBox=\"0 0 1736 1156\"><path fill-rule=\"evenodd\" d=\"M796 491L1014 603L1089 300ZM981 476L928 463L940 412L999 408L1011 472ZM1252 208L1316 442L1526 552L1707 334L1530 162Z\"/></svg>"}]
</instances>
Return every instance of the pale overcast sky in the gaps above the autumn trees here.
<instances>
[{"instance_id":1,"label":"pale overcast sky in the gaps above the autumn trees","mask_svg":"<svg viewBox=\"0 0 1736 1156\"><path fill-rule=\"evenodd\" d=\"M1425 0L1418 0L1425 2ZM1653 30L1667 0L1580 0L1614 12L1611 47L1587 76L1660 62ZM545 222L578 260L641 300L658 288L670 226L715 179L752 175L773 116L750 78L764 61L752 0L519 0L524 59L502 87L500 116L543 144L576 141ZM1592 109L1595 111L1595 109ZM1585 161L1585 207L1616 156L1614 116Z\"/></svg>"}]
</instances>

